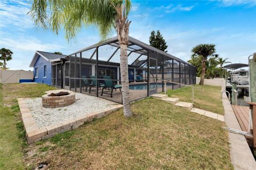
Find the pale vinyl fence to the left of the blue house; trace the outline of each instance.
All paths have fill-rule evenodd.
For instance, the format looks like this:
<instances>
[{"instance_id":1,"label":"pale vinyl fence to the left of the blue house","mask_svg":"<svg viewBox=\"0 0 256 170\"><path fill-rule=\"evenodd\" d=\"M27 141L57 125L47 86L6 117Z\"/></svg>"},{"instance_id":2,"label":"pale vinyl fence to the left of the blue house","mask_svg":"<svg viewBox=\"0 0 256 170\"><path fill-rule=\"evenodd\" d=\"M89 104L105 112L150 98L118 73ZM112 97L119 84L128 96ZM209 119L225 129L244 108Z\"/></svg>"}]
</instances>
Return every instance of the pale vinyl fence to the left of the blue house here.
<instances>
[{"instance_id":1,"label":"pale vinyl fence to the left of the blue house","mask_svg":"<svg viewBox=\"0 0 256 170\"><path fill-rule=\"evenodd\" d=\"M0 70L0 83L32 82L33 71L25 70Z\"/></svg>"}]
</instances>

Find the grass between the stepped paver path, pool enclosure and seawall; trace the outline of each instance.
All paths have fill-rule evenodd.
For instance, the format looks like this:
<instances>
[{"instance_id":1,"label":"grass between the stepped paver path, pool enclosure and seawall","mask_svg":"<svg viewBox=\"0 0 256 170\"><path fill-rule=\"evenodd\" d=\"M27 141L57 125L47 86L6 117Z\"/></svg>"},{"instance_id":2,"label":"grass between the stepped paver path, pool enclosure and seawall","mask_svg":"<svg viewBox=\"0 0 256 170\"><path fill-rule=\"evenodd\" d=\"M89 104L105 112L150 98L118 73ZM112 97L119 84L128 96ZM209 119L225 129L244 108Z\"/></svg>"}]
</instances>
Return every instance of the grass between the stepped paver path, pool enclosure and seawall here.
<instances>
[{"instance_id":1,"label":"grass between the stepped paver path, pool enclosure and seawall","mask_svg":"<svg viewBox=\"0 0 256 170\"><path fill-rule=\"evenodd\" d=\"M195 85L194 107L205 111L224 115L224 108L221 100L221 87L209 85ZM201 88L201 89L198 89ZM169 97L179 98L180 101L192 103L192 88L183 87L175 90L167 90Z\"/></svg>"}]
</instances>

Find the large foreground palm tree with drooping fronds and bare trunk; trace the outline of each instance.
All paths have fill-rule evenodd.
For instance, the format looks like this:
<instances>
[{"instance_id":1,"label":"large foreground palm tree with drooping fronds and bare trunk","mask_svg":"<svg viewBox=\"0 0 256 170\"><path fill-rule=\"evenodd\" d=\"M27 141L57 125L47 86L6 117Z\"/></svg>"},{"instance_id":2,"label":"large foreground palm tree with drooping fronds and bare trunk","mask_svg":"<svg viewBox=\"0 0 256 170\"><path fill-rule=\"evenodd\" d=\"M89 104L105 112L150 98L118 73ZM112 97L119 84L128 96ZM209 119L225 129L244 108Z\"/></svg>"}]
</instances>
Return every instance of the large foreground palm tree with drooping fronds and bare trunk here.
<instances>
[{"instance_id":1,"label":"large foreground palm tree with drooping fronds and bare trunk","mask_svg":"<svg viewBox=\"0 0 256 170\"><path fill-rule=\"evenodd\" d=\"M29 14L38 27L51 29L54 33L62 28L68 40L74 38L83 27L94 25L99 29L102 39L115 28L120 44L120 69L124 116L132 116L129 99L129 79L127 45L130 12L130 0L86 0L86 1L41 1L34 0ZM50 16L49 16L50 14Z\"/></svg>"}]
</instances>

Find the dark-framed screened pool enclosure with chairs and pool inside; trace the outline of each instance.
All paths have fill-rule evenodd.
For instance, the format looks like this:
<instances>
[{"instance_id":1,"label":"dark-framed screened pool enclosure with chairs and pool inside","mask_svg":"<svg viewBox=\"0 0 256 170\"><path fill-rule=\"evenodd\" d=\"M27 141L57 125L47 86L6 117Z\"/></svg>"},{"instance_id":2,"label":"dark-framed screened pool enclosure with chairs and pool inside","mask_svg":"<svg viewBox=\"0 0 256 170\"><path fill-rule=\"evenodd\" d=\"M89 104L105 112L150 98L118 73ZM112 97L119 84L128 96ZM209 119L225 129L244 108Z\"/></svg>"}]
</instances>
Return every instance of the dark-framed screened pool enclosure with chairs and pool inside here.
<instances>
[{"instance_id":1,"label":"dark-framed screened pool enclosure with chairs and pool inside","mask_svg":"<svg viewBox=\"0 0 256 170\"><path fill-rule=\"evenodd\" d=\"M129 37L127 47L130 100L182 84L196 83L195 67ZM122 103L120 49L117 37L52 61L52 86ZM175 83L181 84L175 84Z\"/></svg>"}]
</instances>

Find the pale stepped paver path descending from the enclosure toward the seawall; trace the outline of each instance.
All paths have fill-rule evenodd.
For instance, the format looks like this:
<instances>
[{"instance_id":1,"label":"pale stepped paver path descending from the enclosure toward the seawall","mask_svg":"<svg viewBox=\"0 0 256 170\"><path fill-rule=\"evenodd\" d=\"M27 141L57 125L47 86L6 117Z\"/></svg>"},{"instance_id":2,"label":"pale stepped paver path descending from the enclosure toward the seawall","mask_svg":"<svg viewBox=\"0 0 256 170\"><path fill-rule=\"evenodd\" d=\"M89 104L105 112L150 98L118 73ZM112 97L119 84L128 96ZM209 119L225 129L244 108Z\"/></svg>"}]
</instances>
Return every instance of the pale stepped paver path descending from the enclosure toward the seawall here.
<instances>
[{"instance_id":1,"label":"pale stepped paver path descending from the enclosure toward the seawall","mask_svg":"<svg viewBox=\"0 0 256 170\"><path fill-rule=\"evenodd\" d=\"M219 115L219 114L216 114L216 113L213 113L213 112L204 111L202 109L195 108L195 107L193 107L192 103L179 101L179 98L167 97L167 95L164 95L164 94L153 94L153 95L151 95L151 97L166 101L166 102L171 103L175 106L185 107L185 108L189 109L189 111L191 111L191 112L201 114L201 115L204 115L204 116L207 116L207 117L211 117L211 118L214 118L216 120L224 122L224 116L223 115Z\"/></svg>"}]
</instances>

